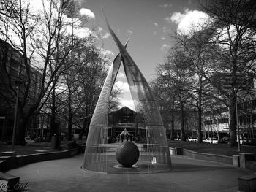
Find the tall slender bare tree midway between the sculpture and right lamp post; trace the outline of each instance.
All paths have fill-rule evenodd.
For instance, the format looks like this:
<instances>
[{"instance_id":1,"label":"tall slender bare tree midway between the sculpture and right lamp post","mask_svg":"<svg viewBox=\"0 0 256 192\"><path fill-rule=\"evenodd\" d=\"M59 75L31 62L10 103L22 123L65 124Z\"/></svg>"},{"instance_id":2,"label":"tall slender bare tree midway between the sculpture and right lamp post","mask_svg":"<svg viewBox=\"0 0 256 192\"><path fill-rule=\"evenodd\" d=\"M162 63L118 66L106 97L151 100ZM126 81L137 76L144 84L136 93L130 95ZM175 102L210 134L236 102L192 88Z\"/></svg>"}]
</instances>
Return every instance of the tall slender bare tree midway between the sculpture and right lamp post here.
<instances>
[{"instance_id":1,"label":"tall slender bare tree midway between the sculpture and right lamp post","mask_svg":"<svg viewBox=\"0 0 256 192\"><path fill-rule=\"evenodd\" d=\"M216 55L219 55L219 48L214 44L208 44L210 35L206 31L191 28L189 35L178 31L176 35L172 36L176 40L176 46L182 50L181 54L187 58L187 68L191 72L188 91L193 100L191 107L196 108L198 112L198 142L202 142L203 103L206 103L204 101L206 94L212 95L207 88L212 76L212 63L216 61Z\"/></svg>"}]
</instances>

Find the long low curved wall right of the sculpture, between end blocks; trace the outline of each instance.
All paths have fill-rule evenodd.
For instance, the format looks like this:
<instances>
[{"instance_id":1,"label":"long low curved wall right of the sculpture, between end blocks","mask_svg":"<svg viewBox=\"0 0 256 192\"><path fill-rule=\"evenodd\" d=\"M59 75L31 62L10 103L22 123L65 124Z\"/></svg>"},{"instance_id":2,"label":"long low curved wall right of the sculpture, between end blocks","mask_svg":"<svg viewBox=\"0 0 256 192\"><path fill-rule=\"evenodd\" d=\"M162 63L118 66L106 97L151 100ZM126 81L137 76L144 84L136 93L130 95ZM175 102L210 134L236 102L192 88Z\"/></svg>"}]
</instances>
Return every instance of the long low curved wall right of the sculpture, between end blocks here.
<instances>
[{"instance_id":1,"label":"long low curved wall right of the sculpture, between end blocks","mask_svg":"<svg viewBox=\"0 0 256 192\"><path fill-rule=\"evenodd\" d=\"M233 165L233 158L229 156L215 155L215 154L208 154L208 153L197 153L195 151L186 150L186 149L183 149L183 155L189 156L190 158L199 159L199 160L215 161L218 163Z\"/></svg>"}]
</instances>

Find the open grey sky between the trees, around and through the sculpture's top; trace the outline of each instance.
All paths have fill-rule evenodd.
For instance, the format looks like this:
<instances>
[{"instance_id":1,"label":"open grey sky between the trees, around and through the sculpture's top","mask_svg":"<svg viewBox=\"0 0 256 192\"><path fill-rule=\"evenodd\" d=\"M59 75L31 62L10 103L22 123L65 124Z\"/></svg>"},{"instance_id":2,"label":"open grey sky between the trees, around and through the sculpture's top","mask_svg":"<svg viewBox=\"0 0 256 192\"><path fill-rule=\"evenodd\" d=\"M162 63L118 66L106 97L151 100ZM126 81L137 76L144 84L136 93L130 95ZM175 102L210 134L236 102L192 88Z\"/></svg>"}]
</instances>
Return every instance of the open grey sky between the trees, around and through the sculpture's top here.
<instances>
[{"instance_id":1,"label":"open grey sky between the trees, around and through the sculpture's top","mask_svg":"<svg viewBox=\"0 0 256 192\"><path fill-rule=\"evenodd\" d=\"M87 15L87 27L97 31L97 46L113 58L118 47L108 32L102 9L118 39L125 43L146 80L157 75L157 64L165 61L167 50L173 45L170 37L174 31L189 32L192 25L200 23L206 14L198 11L199 1L193 0L82 0L80 14ZM121 68L116 87L122 88L121 106L134 110L129 86Z\"/></svg>"}]
</instances>

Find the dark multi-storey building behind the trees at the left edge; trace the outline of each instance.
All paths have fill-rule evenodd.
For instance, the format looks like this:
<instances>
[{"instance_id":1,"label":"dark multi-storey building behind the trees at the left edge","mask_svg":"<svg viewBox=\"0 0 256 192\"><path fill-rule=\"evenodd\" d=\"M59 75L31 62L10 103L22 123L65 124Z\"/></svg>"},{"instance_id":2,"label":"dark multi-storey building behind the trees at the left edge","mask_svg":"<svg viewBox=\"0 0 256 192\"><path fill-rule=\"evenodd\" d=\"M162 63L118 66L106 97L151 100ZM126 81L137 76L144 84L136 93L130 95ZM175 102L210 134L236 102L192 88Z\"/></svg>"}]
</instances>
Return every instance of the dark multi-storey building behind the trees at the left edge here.
<instances>
[{"instance_id":1,"label":"dark multi-storey building behind the trees at the left edge","mask_svg":"<svg viewBox=\"0 0 256 192\"><path fill-rule=\"evenodd\" d=\"M29 75L23 64L23 55L15 50L9 43L0 39L0 138L1 140L10 141L12 137L12 128L15 116L15 92L19 95L19 99L23 99L25 84L30 78L29 97L25 110L29 105L34 104L39 86L42 82L42 74L34 69L29 68ZM18 83L19 82L19 83ZM37 115L31 118L30 130L37 128Z\"/></svg>"}]
</instances>

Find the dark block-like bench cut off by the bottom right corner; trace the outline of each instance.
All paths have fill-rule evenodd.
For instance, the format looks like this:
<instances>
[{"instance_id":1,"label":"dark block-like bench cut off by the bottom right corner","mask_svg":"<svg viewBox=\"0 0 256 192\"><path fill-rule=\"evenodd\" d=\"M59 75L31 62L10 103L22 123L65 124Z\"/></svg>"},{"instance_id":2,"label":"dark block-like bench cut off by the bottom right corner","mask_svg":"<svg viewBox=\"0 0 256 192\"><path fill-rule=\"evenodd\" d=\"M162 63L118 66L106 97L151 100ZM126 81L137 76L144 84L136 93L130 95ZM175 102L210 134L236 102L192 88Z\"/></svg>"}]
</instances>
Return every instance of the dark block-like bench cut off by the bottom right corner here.
<instances>
[{"instance_id":1,"label":"dark block-like bench cut off by the bottom right corner","mask_svg":"<svg viewBox=\"0 0 256 192\"><path fill-rule=\"evenodd\" d=\"M256 174L246 175L238 178L239 191L256 191Z\"/></svg>"}]
</instances>

